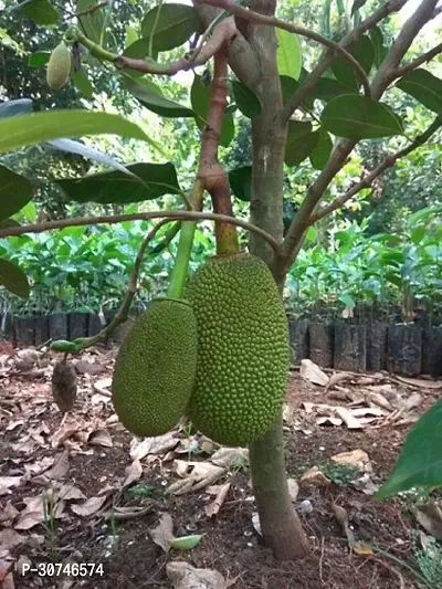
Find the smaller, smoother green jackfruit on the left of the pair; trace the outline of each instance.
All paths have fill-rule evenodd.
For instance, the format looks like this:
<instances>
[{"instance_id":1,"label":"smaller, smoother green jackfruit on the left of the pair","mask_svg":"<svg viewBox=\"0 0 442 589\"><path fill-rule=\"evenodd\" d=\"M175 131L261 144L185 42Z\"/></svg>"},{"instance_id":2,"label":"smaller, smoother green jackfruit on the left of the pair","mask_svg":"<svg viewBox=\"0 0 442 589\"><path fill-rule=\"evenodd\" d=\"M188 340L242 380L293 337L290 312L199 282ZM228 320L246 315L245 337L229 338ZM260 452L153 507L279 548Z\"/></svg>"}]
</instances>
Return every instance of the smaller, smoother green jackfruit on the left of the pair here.
<instances>
[{"instance_id":1,"label":"smaller, smoother green jackfruit on the left of the pair","mask_svg":"<svg viewBox=\"0 0 442 589\"><path fill-rule=\"evenodd\" d=\"M189 304L155 301L124 339L112 400L122 423L140 437L170 431L185 414L197 368L197 320Z\"/></svg>"}]
</instances>

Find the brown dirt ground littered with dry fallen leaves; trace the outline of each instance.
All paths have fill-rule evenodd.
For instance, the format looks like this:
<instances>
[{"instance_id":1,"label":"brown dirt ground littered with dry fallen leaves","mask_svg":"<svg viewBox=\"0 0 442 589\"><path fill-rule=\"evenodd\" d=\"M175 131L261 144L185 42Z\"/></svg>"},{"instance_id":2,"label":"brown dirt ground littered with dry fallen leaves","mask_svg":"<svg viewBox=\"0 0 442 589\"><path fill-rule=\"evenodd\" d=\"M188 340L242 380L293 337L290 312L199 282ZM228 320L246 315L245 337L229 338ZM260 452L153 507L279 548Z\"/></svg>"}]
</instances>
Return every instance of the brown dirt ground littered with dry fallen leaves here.
<instances>
[{"instance_id":1,"label":"brown dirt ground littered with dry fallen leaves","mask_svg":"<svg viewBox=\"0 0 442 589\"><path fill-rule=\"evenodd\" d=\"M115 350L97 349L77 360L77 396L73 411L63 418L51 392L53 365L60 358L32 350L18 357L8 346L0 349L4 589L419 587L401 565L417 567L415 538L425 532L413 514L413 499L377 502L372 493L391 471L413 421L438 399L442 382L380 374L333 377L320 386L312 382L312 374L301 377L293 369L284 411L287 476L311 554L281 564L254 527L256 508L244 460L222 459L213 466L212 454L220 450L188 428L140 441L120 427L109 400L114 357ZM390 407L368 401L376 395ZM315 407L318 403L323 407ZM359 427L350 429L330 407L347 413L365 408L355 413ZM332 456L355 450L369 459L358 472L359 483L354 482L354 465L330 470ZM199 490L198 480L189 477L194 463L209 481ZM303 482L314 466L323 480ZM177 481L190 481L191 488L170 493ZM171 532L176 538L202 537L191 549L167 550ZM180 585L171 579L173 561L218 571L222 578ZM76 578L22 575L40 564L102 568L88 576L91 567Z\"/></svg>"}]
</instances>

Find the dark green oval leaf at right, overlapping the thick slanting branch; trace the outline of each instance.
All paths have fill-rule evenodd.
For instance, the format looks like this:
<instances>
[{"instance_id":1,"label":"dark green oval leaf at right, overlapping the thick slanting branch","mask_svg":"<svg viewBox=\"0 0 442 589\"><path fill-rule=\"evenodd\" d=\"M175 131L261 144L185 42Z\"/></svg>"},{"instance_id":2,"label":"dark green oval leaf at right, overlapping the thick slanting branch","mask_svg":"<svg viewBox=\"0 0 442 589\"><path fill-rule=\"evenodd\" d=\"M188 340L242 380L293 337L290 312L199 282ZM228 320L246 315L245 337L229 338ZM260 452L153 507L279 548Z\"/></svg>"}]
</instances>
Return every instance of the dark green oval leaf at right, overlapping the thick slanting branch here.
<instances>
[{"instance_id":1,"label":"dark green oval leaf at right, overlapping the thick slanting branch","mask_svg":"<svg viewBox=\"0 0 442 589\"><path fill-rule=\"evenodd\" d=\"M330 101L320 120L326 130L348 139L403 134L402 123L389 106L357 94L345 94Z\"/></svg>"}]
</instances>

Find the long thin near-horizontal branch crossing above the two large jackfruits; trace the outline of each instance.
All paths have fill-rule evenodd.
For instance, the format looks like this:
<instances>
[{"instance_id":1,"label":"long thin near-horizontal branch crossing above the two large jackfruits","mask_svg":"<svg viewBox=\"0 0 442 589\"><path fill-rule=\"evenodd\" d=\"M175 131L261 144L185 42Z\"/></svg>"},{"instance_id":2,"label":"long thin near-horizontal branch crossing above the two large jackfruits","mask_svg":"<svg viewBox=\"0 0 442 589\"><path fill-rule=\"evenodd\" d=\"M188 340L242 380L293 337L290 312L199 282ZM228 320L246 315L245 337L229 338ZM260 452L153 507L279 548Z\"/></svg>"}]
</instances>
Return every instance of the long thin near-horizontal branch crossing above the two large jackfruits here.
<instances>
[{"instance_id":1,"label":"long thin near-horizontal branch crossing above the two large jackfruits","mask_svg":"<svg viewBox=\"0 0 442 589\"><path fill-rule=\"evenodd\" d=\"M148 211L136 212L131 214L103 214L99 217L76 217L72 219L60 219L57 221L46 221L45 223L33 223L29 225L9 227L0 229L0 239L10 238L12 235L23 235L24 233L43 233L44 231L51 231L53 229L63 229L66 227L80 227L80 225L98 225L106 223L120 223L123 221L136 221L147 219L169 219L171 221L222 221L224 223L231 223L232 225L241 227L246 231L251 231L260 235L265 240L269 245L277 251L280 243L272 235L260 229L259 227L243 221L242 219L235 219L227 214L217 214L211 212L197 212L197 211Z\"/></svg>"}]
</instances>

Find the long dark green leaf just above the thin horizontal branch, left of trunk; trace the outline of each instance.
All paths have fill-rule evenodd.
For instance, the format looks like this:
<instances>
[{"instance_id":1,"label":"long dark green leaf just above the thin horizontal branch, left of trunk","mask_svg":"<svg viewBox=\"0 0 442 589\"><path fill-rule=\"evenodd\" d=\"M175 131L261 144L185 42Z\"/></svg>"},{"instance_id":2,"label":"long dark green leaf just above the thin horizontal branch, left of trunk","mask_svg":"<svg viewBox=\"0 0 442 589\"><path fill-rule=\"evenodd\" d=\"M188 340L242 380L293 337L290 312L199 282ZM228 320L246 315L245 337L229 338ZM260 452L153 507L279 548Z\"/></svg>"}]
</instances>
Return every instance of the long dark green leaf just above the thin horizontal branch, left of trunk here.
<instances>
[{"instance_id":1,"label":"long dark green leaf just above the thin horizontal branch, left of trunk","mask_svg":"<svg viewBox=\"0 0 442 589\"><path fill-rule=\"evenodd\" d=\"M177 170L167 164L133 164L127 169L136 178L123 171L93 173L84 178L57 179L55 182L71 200L76 202L141 202L164 194L179 194Z\"/></svg>"}]
</instances>

